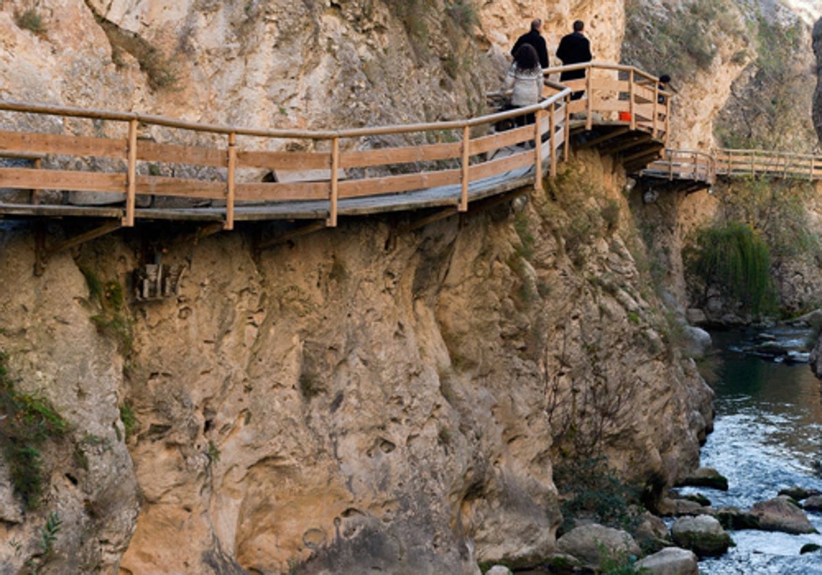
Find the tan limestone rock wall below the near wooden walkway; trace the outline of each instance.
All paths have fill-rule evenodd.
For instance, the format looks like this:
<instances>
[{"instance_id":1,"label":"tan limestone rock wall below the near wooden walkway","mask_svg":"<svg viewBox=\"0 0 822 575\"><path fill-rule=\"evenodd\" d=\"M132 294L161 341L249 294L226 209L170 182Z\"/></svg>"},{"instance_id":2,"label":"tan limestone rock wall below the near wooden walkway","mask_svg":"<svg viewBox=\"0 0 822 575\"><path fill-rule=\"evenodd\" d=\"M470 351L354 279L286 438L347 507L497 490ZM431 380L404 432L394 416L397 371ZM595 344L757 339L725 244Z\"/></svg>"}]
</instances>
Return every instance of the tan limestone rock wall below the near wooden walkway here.
<instances>
[{"instance_id":1,"label":"tan limestone rock wall below the near wooden walkway","mask_svg":"<svg viewBox=\"0 0 822 575\"><path fill-rule=\"evenodd\" d=\"M560 453L673 481L711 393L647 288L620 178L589 156L524 206L343 222L260 255L243 232L147 228L40 278L30 229L4 226L0 347L74 444L103 446L87 474L49 458L48 503L7 510L4 540L33 553L57 510L72 536L48 564L77 573L477 573L553 550ZM187 266L181 291L123 306L130 338L101 334L84 273L129 286L146 241Z\"/></svg>"}]
</instances>

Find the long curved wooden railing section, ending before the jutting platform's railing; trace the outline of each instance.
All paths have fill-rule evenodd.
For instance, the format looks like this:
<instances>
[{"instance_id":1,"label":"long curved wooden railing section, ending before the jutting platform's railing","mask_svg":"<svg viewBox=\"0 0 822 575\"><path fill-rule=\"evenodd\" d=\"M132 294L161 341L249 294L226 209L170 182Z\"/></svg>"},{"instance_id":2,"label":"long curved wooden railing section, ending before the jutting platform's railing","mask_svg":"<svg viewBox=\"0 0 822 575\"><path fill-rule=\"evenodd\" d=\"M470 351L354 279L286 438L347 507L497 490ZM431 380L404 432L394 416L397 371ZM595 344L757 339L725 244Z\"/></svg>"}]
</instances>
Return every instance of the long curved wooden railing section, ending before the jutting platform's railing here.
<instances>
[{"instance_id":1,"label":"long curved wooden railing section, ending before the jutting platform's railing","mask_svg":"<svg viewBox=\"0 0 822 575\"><path fill-rule=\"evenodd\" d=\"M134 224L138 203L152 196L224 202L227 229L242 205L322 201L333 226L341 200L436 186L461 186L459 209L465 210L471 182L536 167L539 186L543 168L556 170L556 150L567 140L566 96L567 90L529 108L464 121L344 131L257 130L0 101L6 125L51 125L58 132L0 130L0 156L43 156L39 166L0 168L0 188L111 195L100 203L122 198L126 226ZM13 122L10 113L24 118ZM537 122L502 133L490 130L526 113L536 114ZM32 116L58 121L32 122ZM496 157L499 150L529 140L545 143ZM283 148L288 151L278 151Z\"/></svg>"}]
</instances>

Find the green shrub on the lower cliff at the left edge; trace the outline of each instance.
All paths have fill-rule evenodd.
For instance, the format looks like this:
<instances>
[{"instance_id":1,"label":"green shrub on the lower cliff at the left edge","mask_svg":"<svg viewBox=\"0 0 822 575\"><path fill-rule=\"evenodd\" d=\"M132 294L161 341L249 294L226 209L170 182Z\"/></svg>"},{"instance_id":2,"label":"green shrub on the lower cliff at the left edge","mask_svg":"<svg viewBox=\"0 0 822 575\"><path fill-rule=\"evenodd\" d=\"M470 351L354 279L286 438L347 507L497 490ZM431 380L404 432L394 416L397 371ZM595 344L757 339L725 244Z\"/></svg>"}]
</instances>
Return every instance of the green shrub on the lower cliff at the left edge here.
<instances>
[{"instance_id":1,"label":"green shrub on the lower cliff at the left edge","mask_svg":"<svg viewBox=\"0 0 822 575\"><path fill-rule=\"evenodd\" d=\"M15 494L25 508L36 508L44 481L40 449L48 439L65 435L68 422L41 395L17 391L5 352L0 352L0 413L0 444Z\"/></svg>"}]
</instances>

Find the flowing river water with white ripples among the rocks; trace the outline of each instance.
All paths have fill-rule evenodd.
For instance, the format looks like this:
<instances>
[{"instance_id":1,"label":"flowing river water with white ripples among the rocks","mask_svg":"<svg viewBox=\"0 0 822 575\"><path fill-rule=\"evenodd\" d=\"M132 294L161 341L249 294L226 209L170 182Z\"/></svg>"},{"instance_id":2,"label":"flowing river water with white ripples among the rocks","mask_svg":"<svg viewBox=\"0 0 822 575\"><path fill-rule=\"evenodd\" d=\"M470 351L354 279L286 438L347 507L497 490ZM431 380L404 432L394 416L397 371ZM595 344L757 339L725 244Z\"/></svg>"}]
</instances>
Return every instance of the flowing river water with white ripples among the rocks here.
<instances>
[{"instance_id":1,"label":"flowing river water with white ripples among the rocks","mask_svg":"<svg viewBox=\"0 0 822 575\"><path fill-rule=\"evenodd\" d=\"M776 342L801 347L801 329L774 329ZM727 477L727 492L688 488L710 499L714 507L750 508L783 488L799 485L822 490L814 463L822 458L820 381L807 363L760 357L744 334L712 334L722 350L713 433L701 464ZM801 354L794 356L803 359ZM789 357L789 359L791 359ZM685 490L684 490L685 491ZM822 514L808 513L822 531ZM800 554L802 545L822 545L822 535L792 536L766 531L731 531L737 546L716 559L700 561L700 574L822 575L822 553Z\"/></svg>"}]
</instances>

